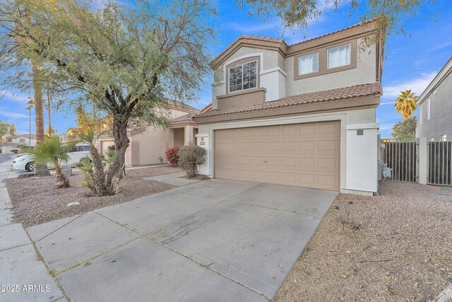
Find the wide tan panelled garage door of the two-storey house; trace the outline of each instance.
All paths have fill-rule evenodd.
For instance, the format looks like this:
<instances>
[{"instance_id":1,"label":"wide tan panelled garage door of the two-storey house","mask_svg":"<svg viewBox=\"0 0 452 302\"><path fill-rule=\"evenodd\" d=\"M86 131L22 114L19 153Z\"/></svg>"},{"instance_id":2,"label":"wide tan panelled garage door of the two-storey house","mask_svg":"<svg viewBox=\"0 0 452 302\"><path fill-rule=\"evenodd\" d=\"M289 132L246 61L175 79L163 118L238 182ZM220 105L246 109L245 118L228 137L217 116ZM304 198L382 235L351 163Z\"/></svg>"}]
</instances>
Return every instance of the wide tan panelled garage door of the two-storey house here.
<instances>
[{"instance_id":1,"label":"wide tan panelled garage door of the two-storey house","mask_svg":"<svg viewBox=\"0 0 452 302\"><path fill-rule=\"evenodd\" d=\"M215 130L215 178L339 190L340 122Z\"/></svg>"}]
</instances>

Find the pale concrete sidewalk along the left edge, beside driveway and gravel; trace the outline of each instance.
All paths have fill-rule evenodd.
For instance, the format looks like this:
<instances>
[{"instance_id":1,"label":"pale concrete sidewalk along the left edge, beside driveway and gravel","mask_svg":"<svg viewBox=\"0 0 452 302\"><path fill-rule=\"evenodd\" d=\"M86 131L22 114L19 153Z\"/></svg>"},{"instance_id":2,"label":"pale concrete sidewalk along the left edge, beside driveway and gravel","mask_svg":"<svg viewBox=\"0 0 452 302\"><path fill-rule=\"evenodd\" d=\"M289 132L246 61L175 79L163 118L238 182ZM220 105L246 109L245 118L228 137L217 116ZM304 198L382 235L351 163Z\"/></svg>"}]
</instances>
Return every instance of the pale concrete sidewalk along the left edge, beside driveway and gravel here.
<instances>
[{"instance_id":1,"label":"pale concrete sidewalk along the left edge, beside driveway and gravel","mask_svg":"<svg viewBox=\"0 0 452 302\"><path fill-rule=\"evenodd\" d=\"M2 181L14 157L0 163L0 301L67 301L22 224L13 223L11 200Z\"/></svg>"}]
</instances>

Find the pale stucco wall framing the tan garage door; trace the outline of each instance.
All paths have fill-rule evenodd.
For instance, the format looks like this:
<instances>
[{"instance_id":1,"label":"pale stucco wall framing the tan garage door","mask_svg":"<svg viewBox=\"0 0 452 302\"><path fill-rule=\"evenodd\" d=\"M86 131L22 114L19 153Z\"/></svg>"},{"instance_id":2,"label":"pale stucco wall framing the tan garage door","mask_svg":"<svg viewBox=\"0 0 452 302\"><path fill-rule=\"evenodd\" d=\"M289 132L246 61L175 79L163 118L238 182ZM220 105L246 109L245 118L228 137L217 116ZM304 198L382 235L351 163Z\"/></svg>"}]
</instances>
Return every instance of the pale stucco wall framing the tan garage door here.
<instances>
[{"instance_id":1,"label":"pale stucco wall framing the tan garage door","mask_svg":"<svg viewBox=\"0 0 452 302\"><path fill-rule=\"evenodd\" d=\"M375 122L375 109L348 110L277 117L262 120L239 120L216 124L201 124L198 130L198 146L207 151L206 163L199 167L200 173L215 177L213 171L215 135L217 129L258 127L272 124L297 124L339 120L340 132L340 191L371 194L377 189L376 135L379 125ZM348 128L348 129L347 129ZM364 136L357 137L356 129L364 129ZM201 140L202 138L202 140ZM358 160L357 160L358 159Z\"/></svg>"}]
</instances>

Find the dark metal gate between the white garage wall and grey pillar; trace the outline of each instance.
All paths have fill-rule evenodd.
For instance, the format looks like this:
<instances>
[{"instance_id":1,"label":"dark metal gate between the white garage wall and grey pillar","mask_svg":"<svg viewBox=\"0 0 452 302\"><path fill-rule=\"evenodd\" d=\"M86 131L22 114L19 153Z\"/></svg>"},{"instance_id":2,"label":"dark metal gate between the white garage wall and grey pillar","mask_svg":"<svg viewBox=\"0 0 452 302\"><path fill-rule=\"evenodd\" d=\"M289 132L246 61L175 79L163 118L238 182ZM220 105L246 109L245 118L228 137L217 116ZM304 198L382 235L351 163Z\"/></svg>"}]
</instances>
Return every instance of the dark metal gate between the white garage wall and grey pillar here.
<instances>
[{"instance_id":1,"label":"dark metal gate between the white garage wall and grey pillar","mask_svg":"<svg viewBox=\"0 0 452 302\"><path fill-rule=\"evenodd\" d=\"M417 142L384 140L383 163L393 171L388 180L417 182Z\"/></svg>"}]
</instances>

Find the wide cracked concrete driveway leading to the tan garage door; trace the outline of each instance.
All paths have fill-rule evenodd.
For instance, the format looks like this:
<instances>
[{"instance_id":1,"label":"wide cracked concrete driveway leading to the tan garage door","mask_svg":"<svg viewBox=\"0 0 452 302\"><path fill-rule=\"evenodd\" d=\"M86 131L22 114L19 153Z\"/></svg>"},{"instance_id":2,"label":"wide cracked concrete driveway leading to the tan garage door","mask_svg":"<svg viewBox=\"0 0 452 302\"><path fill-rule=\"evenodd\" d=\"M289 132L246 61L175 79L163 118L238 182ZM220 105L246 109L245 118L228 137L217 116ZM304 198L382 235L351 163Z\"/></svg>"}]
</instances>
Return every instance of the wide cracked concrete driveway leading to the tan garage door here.
<instances>
[{"instance_id":1,"label":"wide cracked concrete driveway leading to the tan garage door","mask_svg":"<svg viewBox=\"0 0 452 302\"><path fill-rule=\"evenodd\" d=\"M266 301L336 194L215 179L28 232L74 301Z\"/></svg>"}]
</instances>

